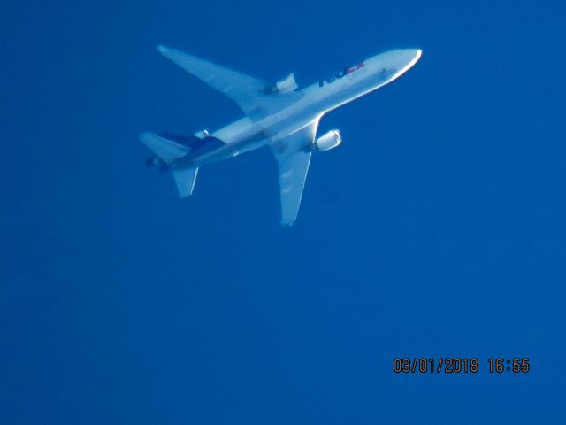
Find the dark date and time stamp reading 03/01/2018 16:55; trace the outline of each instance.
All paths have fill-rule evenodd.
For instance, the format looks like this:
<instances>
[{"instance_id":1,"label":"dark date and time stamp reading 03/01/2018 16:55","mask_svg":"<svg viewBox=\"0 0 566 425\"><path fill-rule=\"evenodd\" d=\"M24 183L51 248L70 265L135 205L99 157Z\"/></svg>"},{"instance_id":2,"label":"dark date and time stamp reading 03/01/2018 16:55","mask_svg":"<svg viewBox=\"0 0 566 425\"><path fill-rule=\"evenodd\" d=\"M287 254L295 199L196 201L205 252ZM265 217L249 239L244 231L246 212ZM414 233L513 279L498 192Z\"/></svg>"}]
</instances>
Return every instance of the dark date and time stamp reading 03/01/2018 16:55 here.
<instances>
[{"instance_id":1,"label":"dark date and time stamp reading 03/01/2018 16:55","mask_svg":"<svg viewBox=\"0 0 566 425\"><path fill-rule=\"evenodd\" d=\"M476 357L396 357L393 360L395 374L477 374L480 369L480 361ZM487 359L486 370L490 374L528 374L531 365L528 357L490 357Z\"/></svg>"}]
</instances>

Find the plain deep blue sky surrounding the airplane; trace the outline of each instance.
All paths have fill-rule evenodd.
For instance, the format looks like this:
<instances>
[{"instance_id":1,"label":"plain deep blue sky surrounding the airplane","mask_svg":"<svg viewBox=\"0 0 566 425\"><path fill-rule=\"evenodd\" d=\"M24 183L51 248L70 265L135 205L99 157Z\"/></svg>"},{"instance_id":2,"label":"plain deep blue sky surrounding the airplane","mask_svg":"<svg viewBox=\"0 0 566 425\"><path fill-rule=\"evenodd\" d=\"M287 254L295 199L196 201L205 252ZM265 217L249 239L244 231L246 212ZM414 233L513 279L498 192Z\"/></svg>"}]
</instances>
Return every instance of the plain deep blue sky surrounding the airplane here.
<instances>
[{"instance_id":1,"label":"plain deep blue sky surrounding the airplane","mask_svg":"<svg viewBox=\"0 0 566 425\"><path fill-rule=\"evenodd\" d=\"M557 423L559 2L21 2L0 15L0 421ZM268 81L419 47L332 112L293 228L257 151L194 197L137 135L240 117L159 43ZM395 375L394 357L477 357ZM489 357L529 357L490 375Z\"/></svg>"}]
</instances>

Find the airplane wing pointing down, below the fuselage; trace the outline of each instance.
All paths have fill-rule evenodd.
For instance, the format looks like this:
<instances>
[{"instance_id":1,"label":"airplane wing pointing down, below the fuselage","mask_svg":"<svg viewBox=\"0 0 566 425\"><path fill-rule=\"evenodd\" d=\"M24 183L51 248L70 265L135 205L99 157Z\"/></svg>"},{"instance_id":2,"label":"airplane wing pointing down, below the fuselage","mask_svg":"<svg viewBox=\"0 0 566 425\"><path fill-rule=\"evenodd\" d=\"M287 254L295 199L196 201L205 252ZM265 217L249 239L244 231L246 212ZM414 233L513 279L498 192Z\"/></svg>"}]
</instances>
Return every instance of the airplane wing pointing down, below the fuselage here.
<instances>
[{"instance_id":1,"label":"airplane wing pointing down, below the fuselage","mask_svg":"<svg viewBox=\"0 0 566 425\"><path fill-rule=\"evenodd\" d=\"M271 145L279 164L282 225L292 226L299 213L302 190L310 165L309 149L317 134L317 127L318 120Z\"/></svg>"}]
</instances>

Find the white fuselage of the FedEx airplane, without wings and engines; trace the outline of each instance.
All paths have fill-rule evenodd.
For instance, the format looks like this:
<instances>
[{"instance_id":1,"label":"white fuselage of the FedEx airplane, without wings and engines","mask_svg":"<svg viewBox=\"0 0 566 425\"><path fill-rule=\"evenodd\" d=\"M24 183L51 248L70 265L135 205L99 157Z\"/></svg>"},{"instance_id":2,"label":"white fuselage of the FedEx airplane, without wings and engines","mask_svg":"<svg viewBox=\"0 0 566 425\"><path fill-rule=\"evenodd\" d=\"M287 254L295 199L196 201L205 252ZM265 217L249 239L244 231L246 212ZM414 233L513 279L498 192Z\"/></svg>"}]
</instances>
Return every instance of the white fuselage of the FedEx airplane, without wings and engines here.
<instances>
[{"instance_id":1,"label":"white fuselage of the FedEx airplane, without wings and engines","mask_svg":"<svg viewBox=\"0 0 566 425\"><path fill-rule=\"evenodd\" d=\"M173 167L203 166L278 143L317 122L326 112L394 81L414 66L420 57L421 50L402 49L368 58L332 78L298 90L300 98L280 111L257 120L245 117L211 133L226 144L190 161L181 159ZM304 149L308 150L310 146L305 145Z\"/></svg>"}]
</instances>

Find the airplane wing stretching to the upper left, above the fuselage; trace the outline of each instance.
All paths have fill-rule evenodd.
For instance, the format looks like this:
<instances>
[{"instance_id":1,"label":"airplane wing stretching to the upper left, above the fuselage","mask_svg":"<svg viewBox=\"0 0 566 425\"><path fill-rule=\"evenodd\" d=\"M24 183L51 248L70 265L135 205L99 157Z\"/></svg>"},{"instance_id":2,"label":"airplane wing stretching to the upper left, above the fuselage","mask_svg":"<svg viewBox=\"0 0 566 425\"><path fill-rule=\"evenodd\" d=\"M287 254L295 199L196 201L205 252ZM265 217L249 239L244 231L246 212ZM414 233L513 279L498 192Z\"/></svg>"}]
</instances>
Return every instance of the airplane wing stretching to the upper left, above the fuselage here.
<instances>
[{"instance_id":1,"label":"airplane wing stretching to the upper left, above the fuselage","mask_svg":"<svg viewBox=\"0 0 566 425\"><path fill-rule=\"evenodd\" d=\"M187 73L192 73L213 89L230 97L250 117L261 118L267 113L282 109L299 97L295 92L272 93L273 85L268 82L195 58L179 50L164 46L157 47L157 50Z\"/></svg>"}]
</instances>

